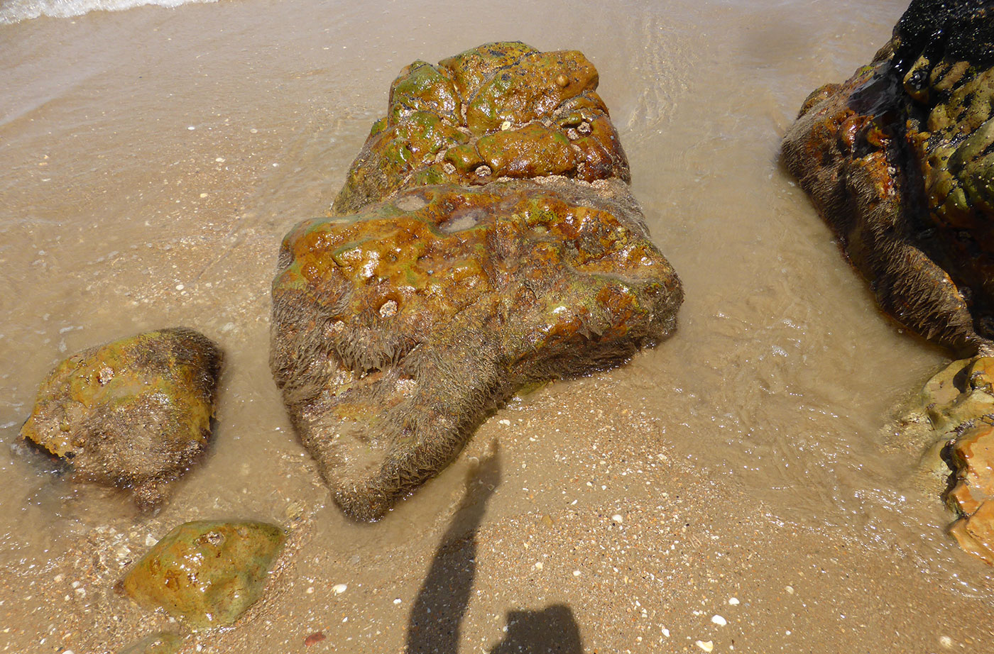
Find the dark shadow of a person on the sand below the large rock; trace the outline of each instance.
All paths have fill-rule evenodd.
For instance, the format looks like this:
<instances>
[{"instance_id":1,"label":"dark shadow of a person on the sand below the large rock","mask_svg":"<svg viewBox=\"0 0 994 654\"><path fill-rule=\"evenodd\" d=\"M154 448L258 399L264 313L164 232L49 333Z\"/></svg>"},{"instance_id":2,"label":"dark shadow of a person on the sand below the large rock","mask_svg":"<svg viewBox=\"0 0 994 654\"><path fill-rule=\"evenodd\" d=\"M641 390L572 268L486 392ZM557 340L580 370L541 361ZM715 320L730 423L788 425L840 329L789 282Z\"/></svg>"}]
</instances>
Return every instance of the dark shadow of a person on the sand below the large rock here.
<instances>
[{"instance_id":1,"label":"dark shadow of a person on the sand below the large rock","mask_svg":"<svg viewBox=\"0 0 994 654\"><path fill-rule=\"evenodd\" d=\"M466 492L414 599L408 625L408 654L457 654L460 627L476 575L476 532L487 501L500 483L500 456L480 462L466 477ZM512 610L506 635L491 654L582 654L573 610L552 604L542 610Z\"/></svg>"}]
</instances>

